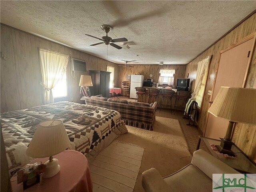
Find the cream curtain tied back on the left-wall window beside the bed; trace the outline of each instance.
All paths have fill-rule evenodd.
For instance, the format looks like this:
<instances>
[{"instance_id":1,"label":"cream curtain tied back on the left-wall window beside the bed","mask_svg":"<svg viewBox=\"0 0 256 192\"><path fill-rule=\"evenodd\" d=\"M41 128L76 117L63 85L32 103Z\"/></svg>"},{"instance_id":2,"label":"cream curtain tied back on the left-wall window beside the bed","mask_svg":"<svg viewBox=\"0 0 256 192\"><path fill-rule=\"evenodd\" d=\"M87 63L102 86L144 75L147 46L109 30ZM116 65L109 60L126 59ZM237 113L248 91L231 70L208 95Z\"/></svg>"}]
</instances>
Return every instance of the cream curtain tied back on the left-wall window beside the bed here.
<instances>
[{"instance_id":1,"label":"cream curtain tied back on the left-wall window beside the bed","mask_svg":"<svg viewBox=\"0 0 256 192\"><path fill-rule=\"evenodd\" d=\"M39 48L44 104L54 103L52 88L58 83L68 65L68 55Z\"/></svg>"}]
</instances>

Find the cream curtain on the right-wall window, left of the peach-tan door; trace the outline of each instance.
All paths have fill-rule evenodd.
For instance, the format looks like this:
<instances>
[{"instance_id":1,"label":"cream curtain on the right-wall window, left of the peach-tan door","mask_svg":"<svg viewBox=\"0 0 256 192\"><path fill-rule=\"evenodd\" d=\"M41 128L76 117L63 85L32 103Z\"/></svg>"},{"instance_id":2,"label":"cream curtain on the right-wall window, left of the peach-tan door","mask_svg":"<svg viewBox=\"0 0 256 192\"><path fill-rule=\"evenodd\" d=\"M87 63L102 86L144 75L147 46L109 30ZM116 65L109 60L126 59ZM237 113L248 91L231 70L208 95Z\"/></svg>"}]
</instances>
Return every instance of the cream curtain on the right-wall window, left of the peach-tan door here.
<instances>
[{"instance_id":1,"label":"cream curtain on the right-wall window, left of the peach-tan door","mask_svg":"<svg viewBox=\"0 0 256 192\"><path fill-rule=\"evenodd\" d=\"M192 98L196 98L196 96L198 95L198 92L202 85L204 73L208 69L211 58L212 56L207 56L205 59L199 61L197 64L195 89L194 92L191 94Z\"/></svg>"}]
</instances>

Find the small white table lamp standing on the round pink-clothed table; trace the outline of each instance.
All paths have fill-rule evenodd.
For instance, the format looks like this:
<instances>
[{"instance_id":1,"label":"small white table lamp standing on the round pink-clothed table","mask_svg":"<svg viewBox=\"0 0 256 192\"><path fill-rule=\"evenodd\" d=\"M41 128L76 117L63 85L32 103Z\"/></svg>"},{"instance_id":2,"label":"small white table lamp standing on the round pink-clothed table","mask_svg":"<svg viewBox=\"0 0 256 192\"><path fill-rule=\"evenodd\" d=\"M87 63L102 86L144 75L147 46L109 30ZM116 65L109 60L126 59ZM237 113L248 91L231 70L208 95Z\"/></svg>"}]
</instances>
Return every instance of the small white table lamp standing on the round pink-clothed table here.
<instances>
[{"instance_id":1,"label":"small white table lamp standing on the round pink-clothed table","mask_svg":"<svg viewBox=\"0 0 256 192\"><path fill-rule=\"evenodd\" d=\"M34 158L49 157L49 160L44 163L46 171L43 173L43 177L50 178L60 171L58 159L52 158L52 156L64 151L69 144L70 140L63 122L61 120L46 120L36 128L26 154Z\"/></svg>"}]
</instances>

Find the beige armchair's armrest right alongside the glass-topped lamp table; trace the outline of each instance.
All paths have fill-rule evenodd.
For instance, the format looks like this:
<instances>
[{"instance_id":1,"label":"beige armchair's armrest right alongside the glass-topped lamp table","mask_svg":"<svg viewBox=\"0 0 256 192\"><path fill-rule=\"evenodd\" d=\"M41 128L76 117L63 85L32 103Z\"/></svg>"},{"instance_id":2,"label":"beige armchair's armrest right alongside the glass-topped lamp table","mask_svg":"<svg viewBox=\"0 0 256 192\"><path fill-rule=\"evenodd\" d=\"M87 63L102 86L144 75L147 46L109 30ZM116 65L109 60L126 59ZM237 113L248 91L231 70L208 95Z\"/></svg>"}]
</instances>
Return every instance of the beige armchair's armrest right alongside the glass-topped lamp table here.
<instances>
[{"instance_id":1,"label":"beige armchair's armrest right alongside the glass-topped lamp table","mask_svg":"<svg viewBox=\"0 0 256 192\"><path fill-rule=\"evenodd\" d=\"M202 149L194 152L191 164L200 169L204 174L212 179L214 173L234 173L239 174L238 171L234 170L224 162L218 160L214 156L208 154Z\"/></svg>"}]
</instances>

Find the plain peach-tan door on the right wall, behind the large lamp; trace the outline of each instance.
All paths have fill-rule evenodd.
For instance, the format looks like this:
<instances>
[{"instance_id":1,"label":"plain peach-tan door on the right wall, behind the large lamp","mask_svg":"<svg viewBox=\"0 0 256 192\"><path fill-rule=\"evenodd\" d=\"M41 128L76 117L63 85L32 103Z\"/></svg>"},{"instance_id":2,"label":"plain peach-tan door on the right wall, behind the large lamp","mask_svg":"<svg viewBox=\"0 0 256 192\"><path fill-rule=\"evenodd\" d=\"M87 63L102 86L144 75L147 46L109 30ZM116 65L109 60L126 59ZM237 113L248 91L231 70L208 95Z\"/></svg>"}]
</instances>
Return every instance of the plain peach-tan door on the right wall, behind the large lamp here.
<instances>
[{"instance_id":1,"label":"plain peach-tan door on the right wall, behind the large lamp","mask_svg":"<svg viewBox=\"0 0 256 192\"><path fill-rule=\"evenodd\" d=\"M255 38L245 38L230 48L220 52L218 72L212 91L214 101L221 86L244 87ZM205 136L223 138L228 127L228 120L209 114Z\"/></svg>"}]
</instances>

